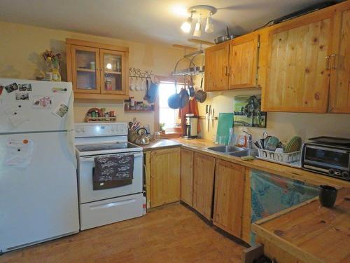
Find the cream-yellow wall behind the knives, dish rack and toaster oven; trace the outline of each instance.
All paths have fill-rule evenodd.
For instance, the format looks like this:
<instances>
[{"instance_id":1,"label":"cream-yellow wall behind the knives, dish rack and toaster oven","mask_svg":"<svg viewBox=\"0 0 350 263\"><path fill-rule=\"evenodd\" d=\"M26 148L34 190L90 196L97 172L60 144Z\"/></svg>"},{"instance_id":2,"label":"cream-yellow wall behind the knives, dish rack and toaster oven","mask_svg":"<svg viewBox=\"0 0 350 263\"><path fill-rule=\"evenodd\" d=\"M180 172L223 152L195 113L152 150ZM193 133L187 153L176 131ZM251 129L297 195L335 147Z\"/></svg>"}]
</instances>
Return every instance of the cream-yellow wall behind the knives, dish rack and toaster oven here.
<instances>
[{"instance_id":1,"label":"cream-yellow wall behind the knives, dish rack and toaster oven","mask_svg":"<svg viewBox=\"0 0 350 263\"><path fill-rule=\"evenodd\" d=\"M206 104L211 104L211 107L215 109L215 116L218 116L218 112L233 112L235 96L259 93L260 90L230 90L222 93L208 93L207 100L203 104L199 104L200 116L205 116ZM203 127L202 130L204 130L202 137L213 140L218 121L214 121L214 128L209 126L209 132L207 132L207 123L204 120L201 120L200 123ZM245 129L253 135L253 140L261 137L265 130L269 135L279 137L282 141L290 140L294 135L299 135L304 141L320 135L350 137L350 114L268 112L267 128ZM241 130L242 127L237 126L235 134L240 134Z\"/></svg>"}]
</instances>

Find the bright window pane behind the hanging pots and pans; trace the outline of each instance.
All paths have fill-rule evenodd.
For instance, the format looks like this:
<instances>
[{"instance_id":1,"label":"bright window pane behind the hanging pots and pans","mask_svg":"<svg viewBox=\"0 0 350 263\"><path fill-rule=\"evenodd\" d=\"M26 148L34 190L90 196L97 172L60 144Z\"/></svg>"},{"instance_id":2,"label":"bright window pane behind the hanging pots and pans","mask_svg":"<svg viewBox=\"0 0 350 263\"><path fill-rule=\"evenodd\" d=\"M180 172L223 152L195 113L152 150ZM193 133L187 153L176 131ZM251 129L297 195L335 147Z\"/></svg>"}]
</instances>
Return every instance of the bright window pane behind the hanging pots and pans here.
<instances>
[{"instance_id":1,"label":"bright window pane behind the hanging pots and pans","mask_svg":"<svg viewBox=\"0 0 350 263\"><path fill-rule=\"evenodd\" d=\"M177 84L177 93L183 88ZM168 106L168 98L175 93L174 82L161 82L159 87L159 123L165 123L164 128L174 128L179 122L179 109L172 109Z\"/></svg>"}]
</instances>

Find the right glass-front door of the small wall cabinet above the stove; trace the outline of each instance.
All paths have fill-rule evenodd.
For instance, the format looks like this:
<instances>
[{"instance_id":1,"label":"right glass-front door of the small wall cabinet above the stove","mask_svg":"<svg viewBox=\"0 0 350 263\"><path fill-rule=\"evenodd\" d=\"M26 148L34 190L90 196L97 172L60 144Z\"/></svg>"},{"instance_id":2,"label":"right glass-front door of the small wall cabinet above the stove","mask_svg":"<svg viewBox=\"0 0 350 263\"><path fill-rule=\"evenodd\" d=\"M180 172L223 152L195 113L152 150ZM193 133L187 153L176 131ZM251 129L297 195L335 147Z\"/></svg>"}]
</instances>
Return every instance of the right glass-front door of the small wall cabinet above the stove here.
<instances>
[{"instance_id":1,"label":"right glass-front door of the small wall cabinet above the stove","mask_svg":"<svg viewBox=\"0 0 350 263\"><path fill-rule=\"evenodd\" d=\"M100 49L101 93L125 94L125 53Z\"/></svg>"}]
</instances>

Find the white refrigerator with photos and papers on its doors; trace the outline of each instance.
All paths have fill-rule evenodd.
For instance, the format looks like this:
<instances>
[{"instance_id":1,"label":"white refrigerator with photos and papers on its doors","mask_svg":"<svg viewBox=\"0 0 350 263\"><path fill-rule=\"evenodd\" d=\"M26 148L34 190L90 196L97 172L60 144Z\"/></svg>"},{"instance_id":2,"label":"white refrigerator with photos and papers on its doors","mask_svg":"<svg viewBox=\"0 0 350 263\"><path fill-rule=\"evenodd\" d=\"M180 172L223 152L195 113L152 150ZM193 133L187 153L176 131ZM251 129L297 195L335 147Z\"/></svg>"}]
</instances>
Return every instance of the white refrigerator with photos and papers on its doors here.
<instances>
[{"instance_id":1,"label":"white refrigerator with photos and papers on its doors","mask_svg":"<svg viewBox=\"0 0 350 263\"><path fill-rule=\"evenodd\" d=\"M78 232L71 83L0 79L0 253Z\"/></svg>"}]
</instances>

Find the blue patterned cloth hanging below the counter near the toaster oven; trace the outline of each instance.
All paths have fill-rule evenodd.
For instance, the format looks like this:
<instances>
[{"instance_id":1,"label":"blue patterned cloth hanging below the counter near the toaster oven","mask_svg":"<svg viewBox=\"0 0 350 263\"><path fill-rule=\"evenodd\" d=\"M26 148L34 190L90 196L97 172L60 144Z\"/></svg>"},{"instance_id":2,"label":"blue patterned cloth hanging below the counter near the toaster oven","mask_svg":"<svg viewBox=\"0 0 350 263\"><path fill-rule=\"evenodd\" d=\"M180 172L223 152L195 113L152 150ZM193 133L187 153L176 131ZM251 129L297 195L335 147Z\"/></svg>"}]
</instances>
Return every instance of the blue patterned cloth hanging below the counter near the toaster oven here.
<instances>
[{"instance_id":1,"label":"blue patterned cloth hanging below the counter near the toaster oven","mask_svg":"<svg viewBox=\"0 0 350 263\"><path fill-rule=\"evenodd\" d=\"M318 187L251 170L251 223L318 196ZM255 234L251 232L251 245Z\"/></svg>"}]
</instances>

